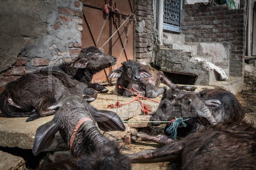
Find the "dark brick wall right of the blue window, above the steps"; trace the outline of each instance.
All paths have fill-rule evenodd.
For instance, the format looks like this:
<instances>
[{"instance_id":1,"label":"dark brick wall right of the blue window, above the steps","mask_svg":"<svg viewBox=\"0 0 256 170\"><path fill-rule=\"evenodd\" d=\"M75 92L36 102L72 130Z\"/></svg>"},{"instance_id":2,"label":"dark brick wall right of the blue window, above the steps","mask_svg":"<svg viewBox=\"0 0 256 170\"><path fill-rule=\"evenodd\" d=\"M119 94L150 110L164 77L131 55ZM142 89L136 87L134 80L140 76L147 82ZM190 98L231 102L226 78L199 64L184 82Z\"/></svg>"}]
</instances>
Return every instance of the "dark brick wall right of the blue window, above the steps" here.
<instances>
[{"instance_id":1,"label":"dark brick wall right of the blue window, above the steps","mask_svg":"<svg viewBox=\"0 0 256 170\"><path fill-rule=\"evenodd\" d=\"M185 41L193 42L229 42L230 75L243 75L245 55L246 12L244 9L232 9L230 6L184 5L184 20L181 23Z\"/></svg>"}]
</instances>

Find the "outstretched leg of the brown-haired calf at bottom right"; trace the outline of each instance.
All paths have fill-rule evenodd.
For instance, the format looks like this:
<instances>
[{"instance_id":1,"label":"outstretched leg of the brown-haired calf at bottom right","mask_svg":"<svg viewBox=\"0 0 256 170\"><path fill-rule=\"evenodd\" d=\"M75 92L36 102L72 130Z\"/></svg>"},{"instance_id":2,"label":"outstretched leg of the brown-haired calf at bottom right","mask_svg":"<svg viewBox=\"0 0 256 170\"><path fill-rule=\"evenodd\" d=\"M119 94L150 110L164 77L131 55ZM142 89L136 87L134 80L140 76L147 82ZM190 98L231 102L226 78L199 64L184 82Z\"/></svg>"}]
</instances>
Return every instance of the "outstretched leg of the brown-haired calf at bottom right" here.
<instances>
[{"instance_id":1,"label":"outstretched leg of the brown-haired calf at bottom right","mask_svg":"<svg viewBox=\"0 0 256 170\"><path fill-rule=\"evenodd\" d=\"M185 147L185 142L183 140L169 143L158 149L149 149L133 154L126 154L126 156L131 161L143 161L151 160L154 158L161 158L165 156L170 156L171 154L181 154L183 148Z\"/></svg>"}]
</instances>

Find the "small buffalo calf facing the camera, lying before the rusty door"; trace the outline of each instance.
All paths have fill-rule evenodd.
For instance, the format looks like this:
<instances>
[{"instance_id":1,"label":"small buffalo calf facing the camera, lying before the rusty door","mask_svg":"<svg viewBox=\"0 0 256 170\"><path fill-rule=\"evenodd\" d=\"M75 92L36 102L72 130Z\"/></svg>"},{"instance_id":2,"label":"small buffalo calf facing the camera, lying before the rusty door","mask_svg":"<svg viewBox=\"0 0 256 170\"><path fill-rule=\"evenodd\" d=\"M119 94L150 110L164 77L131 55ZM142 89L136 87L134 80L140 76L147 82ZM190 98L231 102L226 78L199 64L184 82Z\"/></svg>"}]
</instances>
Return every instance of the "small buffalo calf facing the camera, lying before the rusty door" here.
<instances>
[{"instance_id":1,"label":"small buffalo calf facing the camera, lying before the rusty door","mask_svg":"<svg viewBox=\"0 0 256 170\"><path fill-rule=\"evenodd\" d=\"M127 90L120 89L119 86L125 88L133 88L141 91L141 95L148 98L156 98L164 91L159 88L160 82L166 84L170 88L177 87L178 89L195 91L196 87L192 86L177 86L167 79L164 74L158 70L143 64L139 64L134 60L122 62L122 67L113 70L109 74L109 78L118 78L115 89L119 94L124 96L132 96L134 94Z\"/></svg>"}]
</instances>

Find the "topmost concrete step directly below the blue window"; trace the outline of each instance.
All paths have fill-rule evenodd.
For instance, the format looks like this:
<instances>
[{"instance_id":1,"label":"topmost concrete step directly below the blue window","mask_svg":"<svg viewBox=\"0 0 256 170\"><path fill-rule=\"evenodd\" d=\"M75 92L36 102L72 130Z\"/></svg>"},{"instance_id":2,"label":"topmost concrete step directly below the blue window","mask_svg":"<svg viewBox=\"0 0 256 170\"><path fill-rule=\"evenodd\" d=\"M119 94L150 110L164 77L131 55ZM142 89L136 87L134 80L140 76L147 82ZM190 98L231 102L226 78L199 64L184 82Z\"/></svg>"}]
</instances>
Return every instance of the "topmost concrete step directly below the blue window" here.
<instances>
[{"instance_id":1,"label":"topmost concrete step directly below the blue window","mask_svg":"<svg viewBox=\"0 0 256 170\"><path fill-rule=\"evenodd\" d=\"M185 35L183 34L171 34L164 32L163 33L163 44L184 44Z\"/></svg>"}]
</instances>

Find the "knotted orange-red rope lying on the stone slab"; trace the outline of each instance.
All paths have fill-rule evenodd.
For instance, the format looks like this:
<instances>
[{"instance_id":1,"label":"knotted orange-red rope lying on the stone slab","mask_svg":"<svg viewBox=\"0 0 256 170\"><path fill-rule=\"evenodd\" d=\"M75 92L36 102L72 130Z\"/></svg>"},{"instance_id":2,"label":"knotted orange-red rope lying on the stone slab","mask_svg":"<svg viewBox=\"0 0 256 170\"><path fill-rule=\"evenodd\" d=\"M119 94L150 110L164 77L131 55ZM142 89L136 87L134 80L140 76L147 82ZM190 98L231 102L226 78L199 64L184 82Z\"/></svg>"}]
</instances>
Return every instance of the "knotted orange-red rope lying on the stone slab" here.
<instances>
[{"instance_id":1,"label":"knotted orange-red rope lying on the stone slab","mask_svg":"<svg viewBox=\"0 0 256 170\"><path fill-rule=\"evenodd\" d=\"M133 85L132 85L132 87L130 89L127 89L127 88L121 87L121 86L119 86L118 88L128 90L130 93L135 94L136 97L135 97L135 99L133 99L133 100L131 100L129 102L123 103L123 104L120 104L119 101L117 101L115 104L109 104L108 108L120 108L121 106L124 106L126 104L130 104L130 103L132 103L132 102L134 102L136 100L136 101L141 103L141 111L144 113L144 116L145 116L146 113L147 113L147 115L149 115L150 111L152 111L152 110L150 110L148 108L147 104L145 104L145 106L144 106L143 102L141 100L138 100L138 99L144 99L144 100L148 99L150 101L153 101L153 102L156 102L156 103L160 103L159 101L156 101L156 100L153 100L153 99L150 99L150 98L142 96L140 91L138 91L138 90L133 88ZM135 93L133 90L136 91L137 93Z\"/></svg>"}]
</instances>

